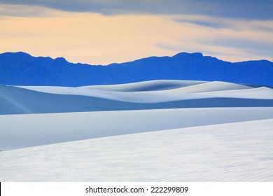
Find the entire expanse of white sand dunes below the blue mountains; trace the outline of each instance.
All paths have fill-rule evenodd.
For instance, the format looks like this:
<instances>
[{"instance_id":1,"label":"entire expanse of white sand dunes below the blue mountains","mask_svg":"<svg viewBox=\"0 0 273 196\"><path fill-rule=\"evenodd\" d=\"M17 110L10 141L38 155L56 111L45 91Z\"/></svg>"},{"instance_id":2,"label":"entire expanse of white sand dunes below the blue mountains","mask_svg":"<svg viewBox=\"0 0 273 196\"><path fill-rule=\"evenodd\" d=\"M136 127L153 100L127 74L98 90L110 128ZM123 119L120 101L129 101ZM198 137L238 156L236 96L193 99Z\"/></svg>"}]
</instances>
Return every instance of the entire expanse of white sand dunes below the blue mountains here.
<instances>
[{"instance_id":1,"label":"entire expanse of white sand dunes below the blue mountains","mask_svg":"<svg viewBox=\"0 0 273 196\"><path fill-rule=\"evenodd\" d=\"M268 87L0 85L0 125L0 181L273 180Z\"/></svg>"}]
</instances>

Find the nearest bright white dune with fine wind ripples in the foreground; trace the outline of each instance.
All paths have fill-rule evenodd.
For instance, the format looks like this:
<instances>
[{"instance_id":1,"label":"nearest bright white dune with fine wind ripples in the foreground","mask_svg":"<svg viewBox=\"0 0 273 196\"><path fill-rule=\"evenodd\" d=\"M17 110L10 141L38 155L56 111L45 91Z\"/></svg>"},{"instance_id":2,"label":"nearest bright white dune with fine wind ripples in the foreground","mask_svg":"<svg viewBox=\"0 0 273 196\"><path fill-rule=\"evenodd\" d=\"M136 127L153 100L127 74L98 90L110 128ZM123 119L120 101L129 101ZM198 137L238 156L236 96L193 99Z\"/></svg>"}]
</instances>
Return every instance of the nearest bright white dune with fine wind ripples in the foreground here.
<instances>
[{"instance_id":1,"label":"nearest bright white dune with fine wind ripples in the foreground","mask_svg":"<svg viewBox=\"0 0 273 196\"><path fill-rule=\"evenodd\" d=\"M0 181L273 181L273 119L0 153Z\"/></svg>"}]
</instances>

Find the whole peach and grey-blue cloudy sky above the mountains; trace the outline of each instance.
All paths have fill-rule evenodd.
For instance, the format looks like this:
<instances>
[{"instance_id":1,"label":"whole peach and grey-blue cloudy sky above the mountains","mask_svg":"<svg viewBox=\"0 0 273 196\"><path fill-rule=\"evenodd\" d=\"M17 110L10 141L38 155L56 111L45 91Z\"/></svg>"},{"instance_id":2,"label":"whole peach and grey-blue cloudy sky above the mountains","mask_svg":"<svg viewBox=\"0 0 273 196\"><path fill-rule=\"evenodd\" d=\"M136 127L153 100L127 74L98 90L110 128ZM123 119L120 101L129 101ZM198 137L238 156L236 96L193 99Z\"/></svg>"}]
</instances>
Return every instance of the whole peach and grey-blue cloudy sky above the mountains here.
<instances>
[{"instance_id":1,"label":"whole peach and grey-blue cloudy sky above the mountains","mask_svg":"<svg viewBox=\"0 0 273 196\"><path fill-rule=\"evenodd\" d=\"M179 52L273 61L273 0L0 0L0 53L110 64Z\"/></svg>"}]
</instances>

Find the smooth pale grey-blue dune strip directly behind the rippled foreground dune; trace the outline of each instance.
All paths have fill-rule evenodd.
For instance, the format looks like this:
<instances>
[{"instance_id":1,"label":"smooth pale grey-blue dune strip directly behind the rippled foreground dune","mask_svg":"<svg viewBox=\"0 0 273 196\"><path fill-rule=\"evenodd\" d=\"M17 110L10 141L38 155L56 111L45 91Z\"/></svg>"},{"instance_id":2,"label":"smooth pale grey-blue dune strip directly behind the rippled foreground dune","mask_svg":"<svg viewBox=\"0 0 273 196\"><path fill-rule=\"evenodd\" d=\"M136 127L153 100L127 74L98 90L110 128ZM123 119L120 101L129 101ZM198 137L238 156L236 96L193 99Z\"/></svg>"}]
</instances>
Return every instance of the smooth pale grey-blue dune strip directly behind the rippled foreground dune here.
<instances>
[{"instance_id":1,"label":"smooth pale grey-blue dune strip directly behind the rippled foreground dune","mask_svg":"<svg viewBox=\"0 0 273 196\"><path fill-rule=\"evenodd\" d=\"M269 118L273 107L2 115L0 149Z\"/></svg>"}]
</instances>

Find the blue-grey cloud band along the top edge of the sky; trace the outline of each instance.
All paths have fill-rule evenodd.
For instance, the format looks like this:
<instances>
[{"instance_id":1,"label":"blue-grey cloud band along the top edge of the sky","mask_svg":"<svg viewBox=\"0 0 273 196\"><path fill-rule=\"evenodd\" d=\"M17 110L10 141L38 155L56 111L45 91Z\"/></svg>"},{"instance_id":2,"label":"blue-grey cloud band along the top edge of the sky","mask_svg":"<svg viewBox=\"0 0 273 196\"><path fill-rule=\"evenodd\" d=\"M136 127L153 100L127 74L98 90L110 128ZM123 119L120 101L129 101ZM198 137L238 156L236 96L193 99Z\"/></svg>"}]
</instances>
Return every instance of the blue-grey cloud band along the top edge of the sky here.
<instances>
[{"instance_id":1,"label":"blue-grey cloud band along the top edge of the sky","mask_svg":"<svg viewBox=\"0 0 273 196\"><path fill-rule=\"evenodd\" d=\"M104 15L211 15L247 20L273 19L272 0L0 0L0 3L45 6L69 12L91 12Z\"/></svg>"}]
</instances>

